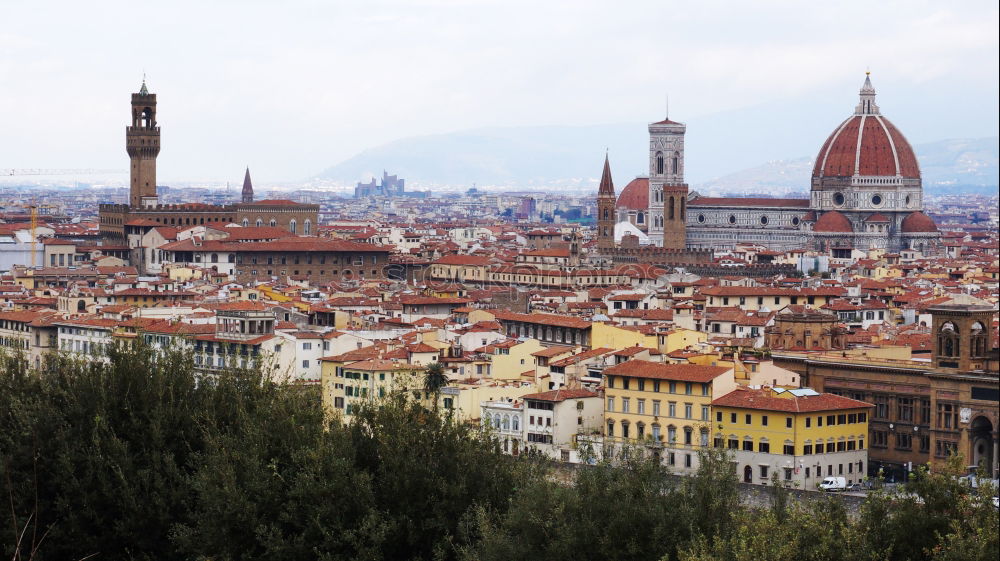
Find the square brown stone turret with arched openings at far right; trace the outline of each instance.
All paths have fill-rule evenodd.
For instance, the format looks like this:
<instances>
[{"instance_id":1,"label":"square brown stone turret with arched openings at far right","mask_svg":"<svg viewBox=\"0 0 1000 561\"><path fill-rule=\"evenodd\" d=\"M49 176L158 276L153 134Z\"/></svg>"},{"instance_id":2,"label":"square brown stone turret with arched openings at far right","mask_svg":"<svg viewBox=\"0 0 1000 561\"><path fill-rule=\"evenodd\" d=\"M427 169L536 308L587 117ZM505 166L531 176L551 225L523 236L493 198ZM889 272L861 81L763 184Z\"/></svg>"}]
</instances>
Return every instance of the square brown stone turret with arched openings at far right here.
<instances>
[{"instance_id":1,"label":"square brown stone turret with arched openings at far right","mask_svg":"<svg viewBox=\"0 0 1000 561\"><path fill-rule=\"evenodd\" d=\"M993 349L996 308L985 300L961 294L927 311L932 319L934 368L963 372L984 369Z\"/></svg>"}]
</instances>

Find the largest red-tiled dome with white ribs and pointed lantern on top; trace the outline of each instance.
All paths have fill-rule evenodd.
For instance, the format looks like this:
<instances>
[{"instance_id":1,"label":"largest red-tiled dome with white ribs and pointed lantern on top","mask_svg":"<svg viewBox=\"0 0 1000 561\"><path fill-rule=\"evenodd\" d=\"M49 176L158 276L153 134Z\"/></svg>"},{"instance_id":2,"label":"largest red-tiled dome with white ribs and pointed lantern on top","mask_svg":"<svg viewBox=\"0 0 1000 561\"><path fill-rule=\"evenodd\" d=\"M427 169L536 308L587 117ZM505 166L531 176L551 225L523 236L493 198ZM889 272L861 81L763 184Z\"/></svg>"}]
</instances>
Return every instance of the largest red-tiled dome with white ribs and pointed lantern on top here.
<instances>
[{"instance_id":1,"label":"largest red-tiled dome with white ribs and pointed lantern on top","mask_svg":"<svg viewBox=\"0 0 1000 561\"><path fill-rule=\"evenodd\" d=\"M866 77L861 102L823 143L813 177L890 176L920 178L920 166L910 143L879 113L875 88Z\"/></svg>"}]
</instances>

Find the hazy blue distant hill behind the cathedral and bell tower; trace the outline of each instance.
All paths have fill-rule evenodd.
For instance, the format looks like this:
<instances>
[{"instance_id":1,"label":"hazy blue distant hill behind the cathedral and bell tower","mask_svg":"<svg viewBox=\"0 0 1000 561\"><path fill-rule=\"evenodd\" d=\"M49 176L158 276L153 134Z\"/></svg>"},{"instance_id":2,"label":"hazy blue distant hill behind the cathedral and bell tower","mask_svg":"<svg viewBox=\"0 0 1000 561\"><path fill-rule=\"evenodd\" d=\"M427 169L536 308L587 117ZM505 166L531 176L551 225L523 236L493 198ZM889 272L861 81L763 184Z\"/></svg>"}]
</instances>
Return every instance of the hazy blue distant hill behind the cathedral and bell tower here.
<instances>
[{"instance_id":1,"label":"hazy blue distant hill behind the cathedral and bell tower","mask_svg":"<svg viewBox=\"0 0 1000 561\"><path fill-rule=\"evenodd\" d=\"M805 193L812 156L832 127L831 117L805 119L807 109L785 107L778 130L766 111L740 111L688 124L687 179L704 193ZM754 130L754 142L733 131ZM814 139L815 147L801 138ZM605 150L615 184L646 173L644 123L589 126L492 127L404 138L365 150L315 176L343 185L382 170L415 189L438 187L595 187ZM998 184L998 139L972 138L915 144L924 183L931 193L982 190ZM761 164L760 162L766 162Z\"/></svg>"}]
</instances>

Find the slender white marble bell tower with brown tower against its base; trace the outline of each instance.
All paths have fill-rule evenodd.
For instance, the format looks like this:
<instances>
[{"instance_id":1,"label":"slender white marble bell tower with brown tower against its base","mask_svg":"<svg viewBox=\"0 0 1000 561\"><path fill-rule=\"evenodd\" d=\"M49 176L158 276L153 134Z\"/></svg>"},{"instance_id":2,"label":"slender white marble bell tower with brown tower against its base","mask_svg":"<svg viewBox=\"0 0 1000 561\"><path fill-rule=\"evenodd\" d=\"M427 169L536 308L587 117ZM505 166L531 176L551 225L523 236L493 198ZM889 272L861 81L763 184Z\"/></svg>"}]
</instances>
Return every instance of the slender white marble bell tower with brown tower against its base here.
<instances>
[{"instance_id":1,"label":"slender white marble bell tower with brown tower against its base","mask_svg":"<svg viewBox=\"0 0 1000 561\"><path fill-rule=\"evenodd\" d=\"M684 183L683 123L664 119L649 125L650 238L663 235L663 247L687 245L687 194Z\"/></svg>"}]
</instances>

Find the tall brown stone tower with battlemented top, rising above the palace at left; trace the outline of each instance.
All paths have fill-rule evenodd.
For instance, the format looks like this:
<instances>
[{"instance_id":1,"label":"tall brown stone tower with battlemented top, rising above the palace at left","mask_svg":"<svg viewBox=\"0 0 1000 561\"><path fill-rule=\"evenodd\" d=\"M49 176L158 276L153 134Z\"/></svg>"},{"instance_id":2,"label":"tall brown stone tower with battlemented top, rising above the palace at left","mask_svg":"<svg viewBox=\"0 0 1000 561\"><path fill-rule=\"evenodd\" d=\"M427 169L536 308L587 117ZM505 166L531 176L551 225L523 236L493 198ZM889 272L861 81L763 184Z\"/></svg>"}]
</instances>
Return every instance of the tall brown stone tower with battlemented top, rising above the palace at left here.
<instances>
[{"instance_id":1,"label":"tall brown stone tower with battlemented top, rising above the palace at left","mask_svg":"<svg viewBox=\"0 0 1000 561\"><path fill-rule=\"evenodd\" d=\"M156 204L156 156L160 153L160 127L156 126L156 94L142 81L139 93L132 94L132 124L125 127L128 152L129 205L133 208Z\"/></svg>"}]
</instances>

